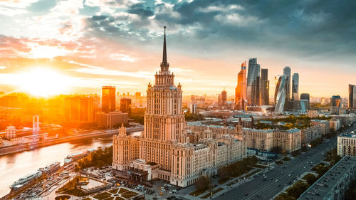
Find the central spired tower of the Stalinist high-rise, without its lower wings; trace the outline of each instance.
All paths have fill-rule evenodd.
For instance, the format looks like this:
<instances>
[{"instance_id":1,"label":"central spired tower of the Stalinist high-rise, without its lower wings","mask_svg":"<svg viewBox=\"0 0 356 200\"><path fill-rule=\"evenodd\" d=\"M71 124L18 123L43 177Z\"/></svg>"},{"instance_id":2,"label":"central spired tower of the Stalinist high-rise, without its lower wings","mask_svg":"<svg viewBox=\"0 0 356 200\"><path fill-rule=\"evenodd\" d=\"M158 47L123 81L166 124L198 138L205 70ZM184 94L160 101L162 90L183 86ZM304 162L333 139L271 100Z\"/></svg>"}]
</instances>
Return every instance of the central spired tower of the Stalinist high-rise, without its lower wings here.
<instances>
[{"instance_id":1,"label":"central spired tower of the Stalinist high-rise, without its lower wings","mask_svg":"<svg viewBox=\"0 0 356 200\"><path fill-rule=\"evenodd\" d=\"M141 140L140 158L155 162L170 170L171 142L185 140L182 112L182 85L174 85L174 74L167 62L164 26L163 59L161 70L155 74L155 85L148 85L145 130Z\"/></svg>"}]
</instances>

